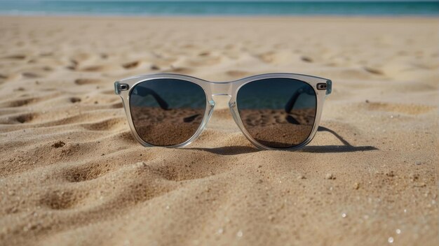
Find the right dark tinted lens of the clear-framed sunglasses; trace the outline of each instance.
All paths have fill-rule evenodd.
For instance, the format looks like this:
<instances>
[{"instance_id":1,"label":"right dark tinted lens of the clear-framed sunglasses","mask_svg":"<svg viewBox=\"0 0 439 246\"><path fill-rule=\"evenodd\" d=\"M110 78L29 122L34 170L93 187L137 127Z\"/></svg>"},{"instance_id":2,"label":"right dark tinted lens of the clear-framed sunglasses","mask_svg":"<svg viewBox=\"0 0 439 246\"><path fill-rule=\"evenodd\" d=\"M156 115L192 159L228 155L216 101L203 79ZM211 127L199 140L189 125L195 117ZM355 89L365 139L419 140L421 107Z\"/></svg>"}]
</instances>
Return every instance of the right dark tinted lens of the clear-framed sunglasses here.
<instances>
[{"instance_id":1,"label":"right dark tinted lens of the clear-framed sunglasses","mask_svg":"<svg viewBox=\"0 0 439 246\"><path fill-rule=\"evenodd\" d=\"M236 98L252 138L268 147L294 147L306 140L316 118L316 92L306 82L269 78L243 85Z\"/></svg>"}]
</instances>

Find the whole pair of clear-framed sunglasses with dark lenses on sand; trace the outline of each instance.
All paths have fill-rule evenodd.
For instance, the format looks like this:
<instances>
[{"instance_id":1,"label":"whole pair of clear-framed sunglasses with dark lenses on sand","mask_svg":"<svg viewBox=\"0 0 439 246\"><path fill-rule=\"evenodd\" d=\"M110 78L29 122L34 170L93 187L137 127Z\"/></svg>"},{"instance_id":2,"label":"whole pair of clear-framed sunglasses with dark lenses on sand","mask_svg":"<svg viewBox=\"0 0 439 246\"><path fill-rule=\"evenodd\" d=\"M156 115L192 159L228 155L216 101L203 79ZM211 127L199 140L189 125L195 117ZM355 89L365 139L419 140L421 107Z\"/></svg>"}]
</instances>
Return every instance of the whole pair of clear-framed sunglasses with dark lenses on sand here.
<instances>
[{"instance_id":1,"label":"whole pair of clear-framed sunglasses with dark lenses on sand","mask_svg":"<svg viewBox=\"0 0 439 246\"><path fill-rule=\"evenodd\" d=\"M296 150L318 129L331 80L267 73L231 82L158 73L114 83L133 136L144 146L183 147L203 131L212 96L230 96L229 108L245 137L266 150Z\"/></svg>"}]
</instances>

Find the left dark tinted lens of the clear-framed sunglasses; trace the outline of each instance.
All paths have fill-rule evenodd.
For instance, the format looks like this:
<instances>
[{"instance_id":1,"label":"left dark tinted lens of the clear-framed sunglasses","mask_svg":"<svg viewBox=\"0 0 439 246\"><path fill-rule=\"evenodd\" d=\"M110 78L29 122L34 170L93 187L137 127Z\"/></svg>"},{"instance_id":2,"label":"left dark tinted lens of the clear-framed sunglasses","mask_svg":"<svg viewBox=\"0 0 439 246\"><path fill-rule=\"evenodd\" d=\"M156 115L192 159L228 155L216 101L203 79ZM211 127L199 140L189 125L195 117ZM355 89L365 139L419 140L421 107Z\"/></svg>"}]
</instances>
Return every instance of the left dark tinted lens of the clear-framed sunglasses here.
<instances>
[{"instance_id":1,"label":"left dark tinted lens of the clear-framed sunglasses","mask_svg":"<svg viewBox=\"0 0 439 246\"><path fill-rule=\"evenodd\" d=\"M192 82L155 79L135 85L130 94L137 134L151 145L184 143L200 126L205 112L203 89Z\"/></svg>"}]
</instances>

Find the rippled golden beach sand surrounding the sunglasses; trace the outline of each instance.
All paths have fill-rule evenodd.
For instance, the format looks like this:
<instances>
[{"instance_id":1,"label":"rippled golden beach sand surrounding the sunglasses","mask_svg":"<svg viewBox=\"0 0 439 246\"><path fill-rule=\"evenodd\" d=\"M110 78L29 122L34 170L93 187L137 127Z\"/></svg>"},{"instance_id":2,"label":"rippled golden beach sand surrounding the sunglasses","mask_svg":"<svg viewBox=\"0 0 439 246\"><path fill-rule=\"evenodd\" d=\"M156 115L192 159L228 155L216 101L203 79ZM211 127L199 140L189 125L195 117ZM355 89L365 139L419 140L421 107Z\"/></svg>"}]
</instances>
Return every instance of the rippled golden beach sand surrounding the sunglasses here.
<instances>
[{"instance_id":1,"label":"rippled golden beach sand surrounding the sunglasses","mask_svg":"<svg viewBox=\"0 0 439 246\"><path fill-rule=\"evenodd\" d=\"M0 17L0 245L437 245L438 21ZM259 151L217 96L145 148L113 82L333 80L300 152ZM393 241L393 243L389 243Z\"/></svg>"}]
</instances>

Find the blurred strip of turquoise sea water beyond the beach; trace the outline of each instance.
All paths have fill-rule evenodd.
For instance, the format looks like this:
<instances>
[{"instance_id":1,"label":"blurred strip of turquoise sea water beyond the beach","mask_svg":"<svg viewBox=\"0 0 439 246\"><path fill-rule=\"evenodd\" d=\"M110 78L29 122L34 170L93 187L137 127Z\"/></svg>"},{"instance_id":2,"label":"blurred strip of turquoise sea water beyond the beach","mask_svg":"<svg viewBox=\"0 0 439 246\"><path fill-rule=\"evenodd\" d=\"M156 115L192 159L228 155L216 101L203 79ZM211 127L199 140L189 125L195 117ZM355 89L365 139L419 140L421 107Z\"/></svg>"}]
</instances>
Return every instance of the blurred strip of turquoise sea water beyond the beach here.
<instances>
[{"instance_id":1,"label":"blurred strip of turquoise sea water beyond the beach","mask_svg":"<svg viewBox=\"0 0 439 246\"><path fill-rule=\"evenodd\" d=\"M7 15L439 15L439 1L0 1Z\"/></svg>"}]
</instances>

